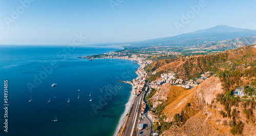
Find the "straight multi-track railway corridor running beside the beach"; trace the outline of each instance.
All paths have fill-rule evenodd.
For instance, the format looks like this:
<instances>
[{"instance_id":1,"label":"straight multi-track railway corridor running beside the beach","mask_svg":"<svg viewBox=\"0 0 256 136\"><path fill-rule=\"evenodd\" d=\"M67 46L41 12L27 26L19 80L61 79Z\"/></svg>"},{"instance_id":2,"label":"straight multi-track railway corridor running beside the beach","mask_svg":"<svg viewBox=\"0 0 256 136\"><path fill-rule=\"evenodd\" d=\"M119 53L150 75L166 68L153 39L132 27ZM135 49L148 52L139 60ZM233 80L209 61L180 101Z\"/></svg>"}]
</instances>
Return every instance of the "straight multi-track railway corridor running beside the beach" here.
<instances>
[{"instance_id":1,"label":"straight multi-track railway corridor running beside the beach","mask_svg":"<svg viewBox=\"0 0 256 136\"><path fill-rule=\"evenodd\" d=\"M127 119L127 122L124 126L124 130L122 132L122 135L124 136L136 135L137 133L139 115L141 112L141 104L144 96L143 94L144 92L137 96L134 100L133 106L131 108L131 113Z\"/></svg>"}]
</instances>

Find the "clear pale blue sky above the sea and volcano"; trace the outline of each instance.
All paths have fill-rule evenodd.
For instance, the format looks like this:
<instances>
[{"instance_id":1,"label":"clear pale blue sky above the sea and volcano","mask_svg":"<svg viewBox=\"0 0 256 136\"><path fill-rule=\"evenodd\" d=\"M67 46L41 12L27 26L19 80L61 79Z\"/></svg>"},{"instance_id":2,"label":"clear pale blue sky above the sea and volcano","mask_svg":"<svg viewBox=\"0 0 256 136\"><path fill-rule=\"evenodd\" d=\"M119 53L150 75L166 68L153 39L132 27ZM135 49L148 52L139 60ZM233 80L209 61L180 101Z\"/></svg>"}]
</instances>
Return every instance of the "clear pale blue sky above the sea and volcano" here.
<instances>
[{"instance_id":1,"label":"clear pale blue sky above the sea and volcano","mask_svg":"<svg viewBox=\"0 0 256 136\"><path fill-rule=\"evenodd\" d=\"M131 42L219 24L256 30L255 5L253 0L0 0L0 45L67 45L80 34L84 45Z\"/></svg>"}]
</instances>

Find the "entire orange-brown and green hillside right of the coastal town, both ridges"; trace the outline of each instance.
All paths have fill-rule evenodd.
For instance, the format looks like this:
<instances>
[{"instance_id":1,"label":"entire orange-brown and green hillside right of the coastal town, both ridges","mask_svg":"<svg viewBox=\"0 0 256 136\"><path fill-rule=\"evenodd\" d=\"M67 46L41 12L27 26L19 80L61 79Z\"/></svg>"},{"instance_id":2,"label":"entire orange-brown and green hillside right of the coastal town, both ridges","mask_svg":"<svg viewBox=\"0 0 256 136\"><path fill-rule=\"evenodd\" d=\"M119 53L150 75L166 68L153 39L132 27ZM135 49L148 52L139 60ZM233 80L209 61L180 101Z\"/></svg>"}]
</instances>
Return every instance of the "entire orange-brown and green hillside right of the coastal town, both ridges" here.
<instances>
[{"instance_id":1,"label":"entire orange-brown and green hillside right of the coastal town, both ridges","mask_svg":"<svg viewBox=\"0 0 256 136\"><path fill-rule=\"evenodd\" d=\"M158 79L161 73L174 72L177 78L191 79L211 71L210 77L193 89L165 83L154 90L152 97L146 97L155 108L152 113L159 117L160 124L154 129L161 135L253 135L256 102L251 87L256 87L255 55L256 45L246 45L148 65L148 81ZM249 98L232 95L241 86Z\"/></svg>"}]
</instances>

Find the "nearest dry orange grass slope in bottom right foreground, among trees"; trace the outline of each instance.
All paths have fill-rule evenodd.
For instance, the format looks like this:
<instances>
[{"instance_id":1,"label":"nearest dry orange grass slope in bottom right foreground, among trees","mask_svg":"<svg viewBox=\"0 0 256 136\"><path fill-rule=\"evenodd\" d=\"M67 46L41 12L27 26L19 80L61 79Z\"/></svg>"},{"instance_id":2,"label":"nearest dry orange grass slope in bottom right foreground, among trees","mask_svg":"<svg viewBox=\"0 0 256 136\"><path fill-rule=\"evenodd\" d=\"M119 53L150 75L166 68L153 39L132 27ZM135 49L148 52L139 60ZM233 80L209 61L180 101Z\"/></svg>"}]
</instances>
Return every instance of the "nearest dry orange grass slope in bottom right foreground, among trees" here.
<instances>
[{"instance_id":1,"label":"nearest dry orange grass slope in bottom right foreground, among trees","mask_svg":"<svg viewBox=\"0 0 256 136\"><path fill-rule=\"evenodd\" d=\"M246 117L242 113L242 104L236 108L239 121L243 121L244 128L241 135L256 135L256 124L246 122ZM202 111L195 116L189 118L182 127L175 128L174 126L167 131L164 131L162 136L170 135L232 135L230 133L231 127L229 126L230 118L223 118L220 112L224 109L224 105L220 102L215 102L206 106ZM256 117L256 110L253 111L254 117Z\"/></svg>"}]
</instances>

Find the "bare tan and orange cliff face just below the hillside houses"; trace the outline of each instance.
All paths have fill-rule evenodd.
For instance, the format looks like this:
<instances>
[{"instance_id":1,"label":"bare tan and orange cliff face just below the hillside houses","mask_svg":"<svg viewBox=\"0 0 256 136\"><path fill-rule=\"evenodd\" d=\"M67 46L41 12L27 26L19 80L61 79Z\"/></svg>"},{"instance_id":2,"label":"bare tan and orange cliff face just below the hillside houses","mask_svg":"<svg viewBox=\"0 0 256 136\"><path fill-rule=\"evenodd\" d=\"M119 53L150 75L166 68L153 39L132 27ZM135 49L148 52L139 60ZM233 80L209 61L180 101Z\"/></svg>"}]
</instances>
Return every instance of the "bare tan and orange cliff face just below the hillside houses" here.
<instances>
[{"instance_id":1,"label":"bare tan and orange cliff face just below the hillside houses","mask_svg":"<svg viewBox=\"0 0 256 136\"><path fill-rule=\"evenodd\" d=\"M223 93L221 81L216 76L207 78L199 86L190 90L181 87L170 88L166 101L168 105L163 110L163 114L167 117L166 121L172 121L174 115L182 111L185 119L194 116L220 93ZM191 105L187 107L186 103Z\"/></svg>"}]
</instances>

